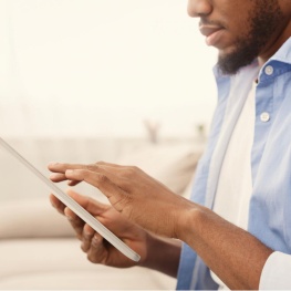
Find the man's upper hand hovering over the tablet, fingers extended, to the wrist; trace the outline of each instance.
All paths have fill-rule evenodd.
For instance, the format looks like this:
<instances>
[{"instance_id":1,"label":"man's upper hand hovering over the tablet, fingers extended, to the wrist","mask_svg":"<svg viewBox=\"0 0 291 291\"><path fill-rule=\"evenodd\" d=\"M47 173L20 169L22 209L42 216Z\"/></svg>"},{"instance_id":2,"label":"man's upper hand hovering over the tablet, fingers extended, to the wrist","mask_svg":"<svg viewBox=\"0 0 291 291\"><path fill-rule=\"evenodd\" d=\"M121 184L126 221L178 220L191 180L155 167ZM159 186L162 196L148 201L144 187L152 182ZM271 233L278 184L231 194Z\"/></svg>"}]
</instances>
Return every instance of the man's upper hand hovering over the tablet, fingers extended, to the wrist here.
<instances>
[{"instance_id":1,"label":"man's upper hand hovering over the tablet, fingers extended, to the wrist","mask_svg":"<svg viewBox=\"0 0 291 291\"><path fill-rule=\"evenodd\" d=\"M53 181L86 181L97 187L112 206L134 224L168 238L179 238L185 214L193 204L136 167L108 163L50 164Z\"/></svg>"}]
</instances>

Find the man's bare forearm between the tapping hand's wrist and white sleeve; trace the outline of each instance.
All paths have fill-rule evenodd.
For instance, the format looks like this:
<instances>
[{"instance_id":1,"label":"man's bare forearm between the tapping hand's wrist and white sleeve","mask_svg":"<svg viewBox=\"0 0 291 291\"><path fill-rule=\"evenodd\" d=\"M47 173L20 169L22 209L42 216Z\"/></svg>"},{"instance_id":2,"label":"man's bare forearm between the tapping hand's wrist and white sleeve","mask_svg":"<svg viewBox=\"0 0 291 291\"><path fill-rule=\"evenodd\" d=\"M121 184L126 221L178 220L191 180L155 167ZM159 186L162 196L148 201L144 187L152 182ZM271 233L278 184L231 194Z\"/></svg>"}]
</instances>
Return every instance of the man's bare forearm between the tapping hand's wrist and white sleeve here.
<instances>
[{"instance_id":1,"label":"man's bare forearm between the tapping hand's wrist and white sleeve","mask_svg":"<svg viewBox=\"0 0 291 291\"><path fill-rule=\"evenodd\" d=\"M188 212L180 230L179 238L228 288L259 288L262 268L272 250L257 238L200 206Z\"/></svg>"}]
</instances>

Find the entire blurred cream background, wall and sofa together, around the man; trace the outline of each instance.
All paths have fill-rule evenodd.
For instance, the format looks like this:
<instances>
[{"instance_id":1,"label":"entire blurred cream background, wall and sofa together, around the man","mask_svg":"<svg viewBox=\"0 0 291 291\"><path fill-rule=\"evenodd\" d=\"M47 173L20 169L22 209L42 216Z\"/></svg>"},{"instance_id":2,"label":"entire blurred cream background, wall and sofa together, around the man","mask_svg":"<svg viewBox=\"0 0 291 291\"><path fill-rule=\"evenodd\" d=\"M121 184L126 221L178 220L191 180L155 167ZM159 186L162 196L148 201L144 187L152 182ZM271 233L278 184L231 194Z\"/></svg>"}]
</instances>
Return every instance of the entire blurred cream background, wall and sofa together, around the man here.
<instances>
[{"instance_id":1,"label":"entire blurred cream background, wall and sofa together, around the man","mask_svg":"<svg viewBox=\"0 0 291 291\"><path fill-rule=\"evenodd\" d=\"M51 160L107 160L189 198L215 63L187 0L0 0L0 136L45 176ZM0 290L175 289L89 262L50 191L0 147Z\"/></svg>"}]
</instances>

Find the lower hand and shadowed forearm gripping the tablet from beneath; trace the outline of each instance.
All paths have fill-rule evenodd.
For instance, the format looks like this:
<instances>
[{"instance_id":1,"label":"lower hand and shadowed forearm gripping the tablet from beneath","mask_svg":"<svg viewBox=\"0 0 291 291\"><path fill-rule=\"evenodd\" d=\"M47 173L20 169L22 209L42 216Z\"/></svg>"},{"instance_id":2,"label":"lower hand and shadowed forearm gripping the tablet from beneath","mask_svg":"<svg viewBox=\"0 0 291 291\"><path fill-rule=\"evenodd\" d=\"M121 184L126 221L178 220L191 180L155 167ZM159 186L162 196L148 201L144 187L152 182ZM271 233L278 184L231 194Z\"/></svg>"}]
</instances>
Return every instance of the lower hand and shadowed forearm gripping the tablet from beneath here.
<instances>
[{"instance_id":1,"label":"lower hand and shadowed forearm gripping the tablet from beneath","mask_svg":"<svg viewBox=\"0 0 291 291\"><path fill-rule=\"evenodd\" d=\"M134 249L141 256L138 266L156 269L168 276L176 277L177 260L180 254L179 241L160 239L159 237L149 233L137 225L131 222L110 205L101 204L90 197L82 196L72 189L67 190L67 195L98 219L113 233L119 237L127 246ZM76 237L81 240L81 249L87 254L87 259L91 262L118 268L129 268L137 264L106 242L55 196L51 195L50 200L53 207L67 218L69 222L75 230ZM170 248L168 248L169 246ZM158 251L159 249L166 249L167 251L162 253ZM164 256L169 258L168 264L162 263Z\"/></svg>"}]
</instances>

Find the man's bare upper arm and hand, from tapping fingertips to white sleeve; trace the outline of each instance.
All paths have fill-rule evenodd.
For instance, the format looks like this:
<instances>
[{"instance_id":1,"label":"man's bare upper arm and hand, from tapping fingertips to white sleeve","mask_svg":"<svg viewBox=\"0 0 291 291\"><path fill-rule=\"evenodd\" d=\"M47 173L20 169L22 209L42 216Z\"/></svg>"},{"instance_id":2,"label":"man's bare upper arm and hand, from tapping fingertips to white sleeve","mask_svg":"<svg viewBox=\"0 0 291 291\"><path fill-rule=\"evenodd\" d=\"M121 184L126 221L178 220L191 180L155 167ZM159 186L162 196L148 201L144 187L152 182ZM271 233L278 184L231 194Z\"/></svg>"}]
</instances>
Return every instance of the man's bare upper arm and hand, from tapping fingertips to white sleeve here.
<instances>
[{"instance_id":1,"label":"man's bare upper arm and hand, from tapping fingertips to white sleeve","mask_svg":"<svg viewBox=\"0 0 291 291\"><path fill-rule=\"evenodd\" d=\"M86 181L128 220L158 236L185 241L229 288L258 289L272 250L211 210L175 195L141 169L107 163L52 164L49 168L58 173L52 180Z\"/></svg>"}]
</instances>

